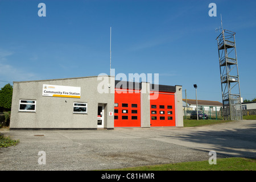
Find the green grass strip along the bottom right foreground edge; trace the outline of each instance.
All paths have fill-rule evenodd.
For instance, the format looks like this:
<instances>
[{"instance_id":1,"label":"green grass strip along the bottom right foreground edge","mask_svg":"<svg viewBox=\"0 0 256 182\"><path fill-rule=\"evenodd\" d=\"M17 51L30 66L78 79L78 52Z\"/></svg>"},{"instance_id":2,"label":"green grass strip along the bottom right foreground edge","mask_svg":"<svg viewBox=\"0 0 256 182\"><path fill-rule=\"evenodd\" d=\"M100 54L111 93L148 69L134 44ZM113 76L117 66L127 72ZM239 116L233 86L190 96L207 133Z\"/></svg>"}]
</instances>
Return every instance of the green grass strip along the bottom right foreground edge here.
<instances>
[{"instance_id":1,"label":"green grass strip along the bottom right foreground edge","mask_svg":"<svg viewBox=\"0 0 256 182\"><path fill-rule=\"evenodd\" d=\"M160 164L154 166L110 169L111 171L255 171L256 159L217 158L217 164L207 161Z\"/></svg>"}]
</instances>

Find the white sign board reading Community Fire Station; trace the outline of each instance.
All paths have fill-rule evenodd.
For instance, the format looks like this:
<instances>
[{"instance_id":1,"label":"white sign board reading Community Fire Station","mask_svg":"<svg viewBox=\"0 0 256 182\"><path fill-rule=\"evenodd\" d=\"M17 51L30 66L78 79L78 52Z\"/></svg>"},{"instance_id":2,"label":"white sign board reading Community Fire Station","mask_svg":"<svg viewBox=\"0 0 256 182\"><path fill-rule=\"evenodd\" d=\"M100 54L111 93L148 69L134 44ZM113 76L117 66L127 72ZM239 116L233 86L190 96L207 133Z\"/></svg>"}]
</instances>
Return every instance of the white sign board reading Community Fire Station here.
<instances>
[{"instance_id":1,"label":"white sign board reading Community Fire Station","mask_svg":"<svg viewBox=\"0 0 256 182\"><path fill-rule=\"evenodd\" d=\"M43 96L80 98L81 87L43 84Z\"/></svg>"}]
</instances>

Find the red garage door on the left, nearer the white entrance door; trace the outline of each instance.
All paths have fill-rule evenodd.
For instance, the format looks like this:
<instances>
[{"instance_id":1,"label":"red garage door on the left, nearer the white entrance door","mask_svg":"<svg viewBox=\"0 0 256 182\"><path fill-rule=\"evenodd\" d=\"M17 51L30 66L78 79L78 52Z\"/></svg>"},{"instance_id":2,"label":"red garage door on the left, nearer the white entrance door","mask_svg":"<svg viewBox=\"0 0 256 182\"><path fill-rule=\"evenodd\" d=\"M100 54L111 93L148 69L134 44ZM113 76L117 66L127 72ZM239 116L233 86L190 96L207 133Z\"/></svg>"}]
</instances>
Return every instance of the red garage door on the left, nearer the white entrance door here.
<instances>
[{"instance_id":1,"label":"red garage door on the left, nearer the white entrance door","mask_svg":"<svg viewBox=\"0 0 256 182\"><path fill-rule=\"evenodd\" d=\"M115 90L114 127L141 127L139 90Z\"/></svg>"}]
</instances>

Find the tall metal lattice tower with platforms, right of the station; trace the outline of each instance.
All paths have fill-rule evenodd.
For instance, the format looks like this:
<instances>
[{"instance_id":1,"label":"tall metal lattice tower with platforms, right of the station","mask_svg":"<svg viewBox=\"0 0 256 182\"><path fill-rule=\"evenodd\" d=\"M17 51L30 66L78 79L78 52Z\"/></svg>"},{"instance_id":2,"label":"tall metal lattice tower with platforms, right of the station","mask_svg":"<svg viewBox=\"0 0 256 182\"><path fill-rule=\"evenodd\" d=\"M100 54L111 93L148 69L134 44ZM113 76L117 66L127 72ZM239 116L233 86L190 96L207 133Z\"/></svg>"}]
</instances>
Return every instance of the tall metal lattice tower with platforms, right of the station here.
<instances>
[{"instance_id":1,"label":"tall metal lattice tower with platforms, right of the station","mask_svg":"<svg viewBox=\"0 0 256 182\"><path fill-rule=\"evenodd\" d=\"M222 90L222 115L225 120L241 120L241 94L235 32L223 30L217 37Z\"/></svg>"}]
</instances>

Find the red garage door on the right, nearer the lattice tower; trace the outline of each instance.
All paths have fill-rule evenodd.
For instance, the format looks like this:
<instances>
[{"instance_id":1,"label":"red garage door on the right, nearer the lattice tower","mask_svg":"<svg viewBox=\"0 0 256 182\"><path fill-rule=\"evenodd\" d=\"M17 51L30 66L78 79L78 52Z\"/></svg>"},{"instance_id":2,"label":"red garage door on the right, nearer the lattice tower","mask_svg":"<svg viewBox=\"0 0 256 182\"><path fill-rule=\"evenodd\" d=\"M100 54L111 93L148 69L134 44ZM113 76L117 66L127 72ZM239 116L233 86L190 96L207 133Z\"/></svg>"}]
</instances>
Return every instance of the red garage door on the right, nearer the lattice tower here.
<instances>
[{"instance_id":1,"label":"red garage door on the right, nearer the lattice tower","mask_svg":"<svg viewBox=\"0 0 256 182\"><path fill-rule=\"evenodd\" d=\"M150 126L175 126L174 93L159 92L156 100L150 100Z\"/></svg>"}]
</instances>

